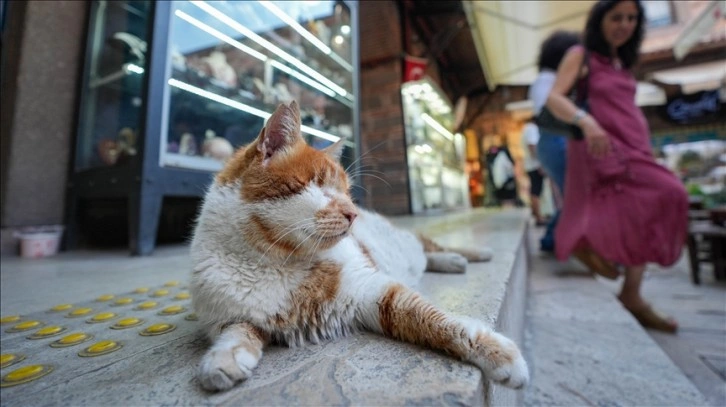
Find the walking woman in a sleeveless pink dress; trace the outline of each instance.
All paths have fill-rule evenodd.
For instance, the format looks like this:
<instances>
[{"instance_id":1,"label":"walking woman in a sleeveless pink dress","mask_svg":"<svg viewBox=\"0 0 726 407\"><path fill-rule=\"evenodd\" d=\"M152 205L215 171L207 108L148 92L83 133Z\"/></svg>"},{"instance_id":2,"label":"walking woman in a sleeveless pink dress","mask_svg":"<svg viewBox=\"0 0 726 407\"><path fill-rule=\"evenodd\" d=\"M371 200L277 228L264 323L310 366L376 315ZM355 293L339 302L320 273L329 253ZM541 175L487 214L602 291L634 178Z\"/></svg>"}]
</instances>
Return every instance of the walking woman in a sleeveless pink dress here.
<instances>
[{"instance_id":1,"label":"walking woman in a sleeveless pink dress","mask_svg":"<svg viewBox=\"0 0 726 407\"><path fill-rule=\"evenodd\" d=\"M675 263L684 246L688 197L681 182L651 153L650 132L635 105L637 61L644 30L643 7L633 0L601 0L588 17L585 49L568 51L547 107L582 129L584 140L567 146L565 202L556 231L556 253L593 249L622 264L618 295L646 327L675 332L677 323L643 300L646 263ZM589 113L567 94L587 81ZM578 85L578 88L582 85Z\"/></svg>"}]
</instances>

